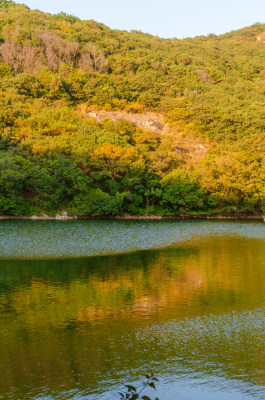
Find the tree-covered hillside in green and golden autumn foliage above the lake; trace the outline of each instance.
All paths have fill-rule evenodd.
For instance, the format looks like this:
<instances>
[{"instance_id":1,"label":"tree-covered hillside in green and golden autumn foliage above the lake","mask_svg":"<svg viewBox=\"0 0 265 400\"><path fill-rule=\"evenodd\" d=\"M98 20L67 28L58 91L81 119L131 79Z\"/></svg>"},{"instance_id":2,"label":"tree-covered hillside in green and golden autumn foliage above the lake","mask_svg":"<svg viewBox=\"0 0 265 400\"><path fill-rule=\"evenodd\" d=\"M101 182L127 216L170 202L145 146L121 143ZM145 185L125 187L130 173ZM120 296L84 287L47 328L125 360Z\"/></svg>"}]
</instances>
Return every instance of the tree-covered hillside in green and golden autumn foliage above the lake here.
<instances>
[{"instance_id":1,"label":"tree-covered hillside in green and golden autumn foliage above the lake","mask_svg":"<svg viewBox=\"0 0 265 400\"><path fill-rule=\"evenodd\" d=\"M0 36L0 214L265 210L265 25L169 40L0 0Z\"/></svg>"}]
</instances>

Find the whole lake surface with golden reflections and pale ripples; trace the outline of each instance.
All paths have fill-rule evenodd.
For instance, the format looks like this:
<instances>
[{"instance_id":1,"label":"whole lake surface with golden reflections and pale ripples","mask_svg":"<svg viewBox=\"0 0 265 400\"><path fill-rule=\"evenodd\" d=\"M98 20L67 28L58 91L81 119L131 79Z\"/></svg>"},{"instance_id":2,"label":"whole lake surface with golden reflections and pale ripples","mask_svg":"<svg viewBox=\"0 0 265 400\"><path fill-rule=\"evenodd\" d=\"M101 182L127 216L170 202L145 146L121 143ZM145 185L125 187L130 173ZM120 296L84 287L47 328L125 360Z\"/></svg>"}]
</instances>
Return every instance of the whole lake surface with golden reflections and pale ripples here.
<instances>
[{"instance_id":1,"label":"whole lake surface with golden reflections and pale ripples","mask_svg":"<svg viewBox=\"0 0 265 400\"><path fill-rule=\"evenodd\" d=\"M265 399L265 224L1 221L0 399Z\"/></svg>"}]
</instances>

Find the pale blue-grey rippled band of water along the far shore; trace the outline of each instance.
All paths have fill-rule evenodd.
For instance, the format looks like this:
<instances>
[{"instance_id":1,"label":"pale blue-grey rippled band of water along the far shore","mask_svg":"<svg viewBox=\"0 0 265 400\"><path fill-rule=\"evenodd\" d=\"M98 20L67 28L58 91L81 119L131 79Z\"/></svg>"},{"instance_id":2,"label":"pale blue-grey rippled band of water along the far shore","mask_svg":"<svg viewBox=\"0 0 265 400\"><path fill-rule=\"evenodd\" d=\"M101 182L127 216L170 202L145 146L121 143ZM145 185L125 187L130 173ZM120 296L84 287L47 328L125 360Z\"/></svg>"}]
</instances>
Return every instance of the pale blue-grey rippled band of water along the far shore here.
<instances>
[{"instance_id":1,"label":"pale blue-grey rippled band of water along the far shore","mask_svg":"<svg viewBox=\"0 0 265 400\"><path fill-rule=\"evenodd\" d=\"M265 239L249 221L0 221L0 258L85 257L162 248L210 236Z\"/></svg>"}]
</instances>

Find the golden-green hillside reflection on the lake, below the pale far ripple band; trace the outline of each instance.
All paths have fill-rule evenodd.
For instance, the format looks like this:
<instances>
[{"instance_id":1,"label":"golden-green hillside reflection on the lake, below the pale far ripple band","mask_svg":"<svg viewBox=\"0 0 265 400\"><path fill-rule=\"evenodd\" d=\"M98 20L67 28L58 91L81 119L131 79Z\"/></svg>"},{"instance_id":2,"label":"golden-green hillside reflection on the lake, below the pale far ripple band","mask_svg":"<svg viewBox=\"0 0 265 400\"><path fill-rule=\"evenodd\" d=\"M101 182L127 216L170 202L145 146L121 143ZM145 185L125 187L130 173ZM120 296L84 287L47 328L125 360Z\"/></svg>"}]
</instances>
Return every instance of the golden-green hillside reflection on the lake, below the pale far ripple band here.
<instances>
[{"instance_id":1,"label":"golden-green hillside reflection on the lake, below the pale far ripple band","mask_svg":"<svg viewBox=\"0 0 265 400\"><path fill-rule=\"evenodd\" d=\"M264 299L264 241L235 235L117 256L3 261L0 395L92 396L153 365L162 380L207 372L262 387Z\"/></svg>"}]
</instances>

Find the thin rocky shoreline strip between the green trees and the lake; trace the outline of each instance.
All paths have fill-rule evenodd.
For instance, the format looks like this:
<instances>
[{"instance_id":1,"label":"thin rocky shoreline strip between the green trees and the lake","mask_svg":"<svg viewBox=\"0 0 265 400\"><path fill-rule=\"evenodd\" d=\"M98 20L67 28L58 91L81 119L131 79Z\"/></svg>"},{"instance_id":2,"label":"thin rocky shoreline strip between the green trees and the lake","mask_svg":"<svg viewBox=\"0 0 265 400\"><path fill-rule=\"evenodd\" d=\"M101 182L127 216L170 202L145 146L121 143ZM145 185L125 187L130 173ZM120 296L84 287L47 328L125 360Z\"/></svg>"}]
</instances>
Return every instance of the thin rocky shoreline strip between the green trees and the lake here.
<instances>
[{"instance_id":1,"label":"thin rocky shoreline strip between the green trees and the lake","mask_svg":"<svg viewBox=\"0 0 265 400\"><path fill-rule=\"evenodd\" d=\"M71 216L71 215L60 215L48 216L48 215L32 215L32 216L12 216L12 215L0 215L0 220L31 220L31 221L71 221L71 220L262 220L265 222L265 216L263 214L235 214L235 215L121 215L121 216Z\"/></svg>"}]
</instances>

